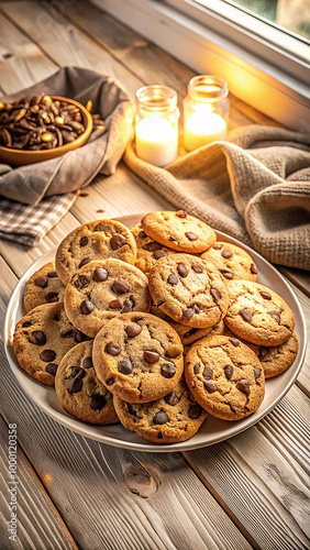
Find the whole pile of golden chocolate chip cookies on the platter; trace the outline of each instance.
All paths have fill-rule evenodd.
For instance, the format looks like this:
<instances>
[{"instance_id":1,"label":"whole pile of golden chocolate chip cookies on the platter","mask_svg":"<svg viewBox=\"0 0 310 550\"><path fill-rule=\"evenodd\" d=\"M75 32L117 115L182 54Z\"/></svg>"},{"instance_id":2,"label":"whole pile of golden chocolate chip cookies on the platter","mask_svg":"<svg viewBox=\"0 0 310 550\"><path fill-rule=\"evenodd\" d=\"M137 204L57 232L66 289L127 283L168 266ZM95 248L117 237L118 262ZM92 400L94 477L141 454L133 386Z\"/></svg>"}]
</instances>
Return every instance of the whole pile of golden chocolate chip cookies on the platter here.
<instances>
[{"instance_id":1,"label":"whole pile of golden chocolate chip cookies on the platter","mask_svg":"<svg viewBox=\"0 0 310 550\"><path fill-rule=\"evenodd\" d=\"M208 414L253 414L296 358L292 311L257 274L184 210L86 223L29 280L19 364L80 421L185 441Z\"/></svg>"}]
</instances>

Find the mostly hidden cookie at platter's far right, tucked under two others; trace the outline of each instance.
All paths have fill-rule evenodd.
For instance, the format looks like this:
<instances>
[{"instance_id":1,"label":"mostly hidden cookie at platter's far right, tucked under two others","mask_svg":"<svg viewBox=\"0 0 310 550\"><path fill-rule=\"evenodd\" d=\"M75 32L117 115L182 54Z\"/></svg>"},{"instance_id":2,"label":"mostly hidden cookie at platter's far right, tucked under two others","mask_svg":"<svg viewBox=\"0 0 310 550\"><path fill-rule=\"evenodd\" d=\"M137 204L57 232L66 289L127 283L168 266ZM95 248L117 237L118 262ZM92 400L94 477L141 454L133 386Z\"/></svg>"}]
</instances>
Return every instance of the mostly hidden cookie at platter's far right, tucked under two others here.
<instances>
[{"instance_id":1,"label":"mostly hidden cookie at platter's far right, tucked under two others","mask_svg":"<svg viewBox=\"0 0 310 550\"><path fill-rule=\"evenodd\" d=\"M291 334L289 339L280 345L255 345L250 344L250 348L258 356L262 366L264 367L265 378L272 378L284 373L295 361L298 352L298 340L296 334Z\"/></svg>"}]
</instances>

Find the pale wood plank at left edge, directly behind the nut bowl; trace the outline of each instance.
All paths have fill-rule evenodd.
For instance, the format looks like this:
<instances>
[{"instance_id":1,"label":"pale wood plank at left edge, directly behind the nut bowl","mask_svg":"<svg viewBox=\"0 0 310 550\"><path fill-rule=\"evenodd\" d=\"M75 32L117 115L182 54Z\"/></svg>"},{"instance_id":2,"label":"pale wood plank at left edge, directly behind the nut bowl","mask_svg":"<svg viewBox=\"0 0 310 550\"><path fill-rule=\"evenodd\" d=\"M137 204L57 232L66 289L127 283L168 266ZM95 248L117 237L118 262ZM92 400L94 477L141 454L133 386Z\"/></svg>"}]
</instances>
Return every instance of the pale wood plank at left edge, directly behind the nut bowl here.
<instances>
[{"instance_id":1,"label":"pale wood plank at left edge, directly behind the nut bowl","mask_svg":"<svg viewBox=\"0 0 310 550\"><path fill-rule=\"evenodd\" d=\"M57 65L2 13L0 29L0 75L4 94L27 88L57 70Z\"/></svg>"}]
</instances>

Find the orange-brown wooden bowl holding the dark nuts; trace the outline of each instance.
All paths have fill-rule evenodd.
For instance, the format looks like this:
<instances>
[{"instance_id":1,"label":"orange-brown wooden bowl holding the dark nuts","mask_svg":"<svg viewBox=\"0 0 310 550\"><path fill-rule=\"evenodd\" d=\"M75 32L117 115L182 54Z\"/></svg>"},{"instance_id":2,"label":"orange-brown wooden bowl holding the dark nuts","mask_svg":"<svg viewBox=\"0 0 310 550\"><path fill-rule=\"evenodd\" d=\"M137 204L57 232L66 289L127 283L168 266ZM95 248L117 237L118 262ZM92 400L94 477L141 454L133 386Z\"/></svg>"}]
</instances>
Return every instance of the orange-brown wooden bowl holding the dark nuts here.
<instances>
[{"instance_id":1,"label":"orange-brown wooden bowl holding the dark nuts","mask_svg":"<svg viewBox=\"0 0 310 550\"><path fill-rule=\"evenodd\" d=\"M63 98L58 96L51 96L51 98L55 101L66 101L67 103L78 107L81 112L85 131L70 143L66 143L60 147L47 148L43 151L18 150L13 147L2 147L0 145L0 161L2 163L9 164L11 166L24 166L25 164L49 161L49 158L55 158L56 156L64 155L68 151L74 151L75 148L80 147L88 140L92 130L92 118L90 112L81 103L75 101L74 99Z\"/></svg>"}]
</instances>

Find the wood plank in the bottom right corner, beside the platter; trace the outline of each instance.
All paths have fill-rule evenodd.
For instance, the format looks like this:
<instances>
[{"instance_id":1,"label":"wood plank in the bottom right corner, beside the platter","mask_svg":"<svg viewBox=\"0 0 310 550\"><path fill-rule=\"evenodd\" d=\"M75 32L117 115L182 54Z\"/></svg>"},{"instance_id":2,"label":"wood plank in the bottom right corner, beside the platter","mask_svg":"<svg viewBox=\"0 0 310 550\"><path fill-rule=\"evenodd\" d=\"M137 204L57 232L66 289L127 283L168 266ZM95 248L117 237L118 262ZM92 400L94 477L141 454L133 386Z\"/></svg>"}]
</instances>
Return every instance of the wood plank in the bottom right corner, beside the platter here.
<instances>
[{"instance_id":1,"label":"wood plank in the bottom right corner, beside the platter","mask_svg":"<svg viewBox=\"0 0 310 550\"><path fill-rule=\"evenodd\" d=\"M264 550L309 548L309 408L294 386L253 428L182 453Z\"/></svg>"}]
</instances>

